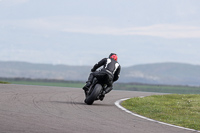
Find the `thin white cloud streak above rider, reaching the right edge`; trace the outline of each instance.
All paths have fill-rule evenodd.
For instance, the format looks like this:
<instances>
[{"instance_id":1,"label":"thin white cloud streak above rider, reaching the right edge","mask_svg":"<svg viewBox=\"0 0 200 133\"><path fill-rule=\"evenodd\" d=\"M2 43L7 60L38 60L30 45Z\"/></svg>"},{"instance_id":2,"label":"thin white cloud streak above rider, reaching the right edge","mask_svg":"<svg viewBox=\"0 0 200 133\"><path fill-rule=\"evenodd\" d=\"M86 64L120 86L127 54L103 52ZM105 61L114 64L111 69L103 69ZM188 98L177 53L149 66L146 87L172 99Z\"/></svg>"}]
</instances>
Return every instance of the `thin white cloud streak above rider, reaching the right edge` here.
<instances>
[{"instance_id":1,"label":"thin white cloud streak above rider, reaching the right edge","mask_svg":"<svg viewBox=\"0 0 200 133\"><path fill-rule=\"evenodd\" d=\"M109 27L109 26L88 26L88 27L67 27L65 32L105 34L105 35L142 35L163 38L200 38L200 27L187 25L159 24L144 27Z\"/></svg>"}]
</instances>

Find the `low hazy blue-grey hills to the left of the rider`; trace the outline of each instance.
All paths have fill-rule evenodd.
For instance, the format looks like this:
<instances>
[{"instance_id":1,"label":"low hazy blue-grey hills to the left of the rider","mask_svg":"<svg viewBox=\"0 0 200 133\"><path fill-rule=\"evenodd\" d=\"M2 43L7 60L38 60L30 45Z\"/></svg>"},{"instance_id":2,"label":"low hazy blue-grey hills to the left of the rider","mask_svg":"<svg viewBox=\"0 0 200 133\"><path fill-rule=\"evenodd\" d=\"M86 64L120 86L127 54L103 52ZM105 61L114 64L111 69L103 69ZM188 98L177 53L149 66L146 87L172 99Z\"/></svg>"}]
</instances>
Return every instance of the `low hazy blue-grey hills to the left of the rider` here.
<instances>
[{"instance_id":1,"label":"low hazy blue-grey hills to the left of the rider","mask_svg":"<svg viewBox=\"0 0 200 133\"><path fill-rule=\"evenodd\" d=\"M86 80L89 66L32 64L27 62L0 62L0 77L23 77L60 80Z\"/></svg>"}]
</instances>

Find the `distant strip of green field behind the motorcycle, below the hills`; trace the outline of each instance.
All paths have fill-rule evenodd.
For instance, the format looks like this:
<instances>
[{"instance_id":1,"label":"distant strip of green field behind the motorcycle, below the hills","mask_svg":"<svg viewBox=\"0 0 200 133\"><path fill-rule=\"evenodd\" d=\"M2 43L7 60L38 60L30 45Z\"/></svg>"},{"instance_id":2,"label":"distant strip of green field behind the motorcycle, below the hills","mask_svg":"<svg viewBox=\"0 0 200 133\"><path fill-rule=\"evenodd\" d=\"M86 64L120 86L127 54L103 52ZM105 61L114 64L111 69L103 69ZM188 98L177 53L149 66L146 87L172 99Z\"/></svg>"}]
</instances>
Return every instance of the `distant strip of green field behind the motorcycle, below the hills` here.
<instances>
[{"instance_id":1,"label":"distant strip of green field behind the motorcycle, below the hills","mask_svg":"<svg viewBox=\"0 0 200 133\"><path fill-rule=\"evenodd\" d=\"M39 79L0 79L2 83L82 88L84 82ZM0 82L1 83L1 82ZM114 83L114 90L145 91L176 94L200 94L200 87Z\"/></svg>"}]
</instances>

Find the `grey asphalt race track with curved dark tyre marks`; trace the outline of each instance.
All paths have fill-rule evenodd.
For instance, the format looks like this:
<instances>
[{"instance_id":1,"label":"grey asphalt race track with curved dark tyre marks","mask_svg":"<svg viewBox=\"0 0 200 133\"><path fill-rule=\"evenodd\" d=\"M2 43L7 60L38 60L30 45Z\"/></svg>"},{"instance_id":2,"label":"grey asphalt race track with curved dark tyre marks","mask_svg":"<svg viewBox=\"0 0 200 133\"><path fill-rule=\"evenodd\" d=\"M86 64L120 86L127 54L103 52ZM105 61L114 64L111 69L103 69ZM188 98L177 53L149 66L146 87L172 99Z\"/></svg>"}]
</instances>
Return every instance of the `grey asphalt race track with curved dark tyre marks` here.
<instances>
[{"instance_id":1,"label":"grey asphalt race track with curved dark tyre marks","mask_svg":"<svg viewBox=\"0 0 200 133\"><path fill-rule=\"evenodd\" d=\"M157 93L111 91L84 104L80 88L0 84L0 133L191 133L130 115L115 101Z\"/></svg>"}]
</instances>

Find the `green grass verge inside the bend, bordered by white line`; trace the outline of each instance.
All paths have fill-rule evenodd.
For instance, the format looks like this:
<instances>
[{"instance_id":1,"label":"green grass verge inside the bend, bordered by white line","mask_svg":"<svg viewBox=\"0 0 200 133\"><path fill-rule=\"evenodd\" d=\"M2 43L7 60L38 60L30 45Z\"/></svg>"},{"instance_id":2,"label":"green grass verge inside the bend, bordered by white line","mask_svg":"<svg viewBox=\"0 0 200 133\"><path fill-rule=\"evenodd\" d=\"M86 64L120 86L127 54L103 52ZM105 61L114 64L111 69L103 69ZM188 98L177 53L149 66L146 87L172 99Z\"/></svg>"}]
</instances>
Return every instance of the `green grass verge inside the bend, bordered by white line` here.
<instances>
[{"instance_id":1,"label":"green grass verge inside the bend, bordered by white line","mask_svg":"<svg viewBox=\"0 0 200 133\"><path fill-rule=\"evenodd\" d=\"M154 120L200 130L200 95L197 94L136 97L122 102L122 106Z\"/></svg>"}]
</instances>

